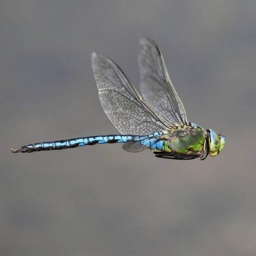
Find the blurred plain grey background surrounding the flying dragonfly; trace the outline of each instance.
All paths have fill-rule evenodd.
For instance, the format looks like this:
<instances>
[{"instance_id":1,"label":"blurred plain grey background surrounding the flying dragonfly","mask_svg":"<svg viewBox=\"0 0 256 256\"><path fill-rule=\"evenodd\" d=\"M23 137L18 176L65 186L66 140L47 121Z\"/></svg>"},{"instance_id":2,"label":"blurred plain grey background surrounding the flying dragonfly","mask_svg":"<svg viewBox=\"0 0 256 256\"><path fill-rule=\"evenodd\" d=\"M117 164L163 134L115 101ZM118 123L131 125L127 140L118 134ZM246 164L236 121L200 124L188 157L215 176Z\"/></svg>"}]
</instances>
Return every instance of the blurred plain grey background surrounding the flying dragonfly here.
<instances>
[{"instance_id":1,"label":"blurred plain grey background surrounding the flying dragonfly","mask_svg":"<svg viewBox=\"0 0 256 256\"><path fill-rule=\"evenodd\" d=\"M0 255L256 255L255 0L2 0ZM120 145L12 154L116 133L93 51L136 86L137 43L164 55L188 120L227 137L205 161Z\"/></svg>"}]
</instances>

